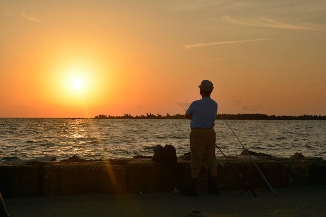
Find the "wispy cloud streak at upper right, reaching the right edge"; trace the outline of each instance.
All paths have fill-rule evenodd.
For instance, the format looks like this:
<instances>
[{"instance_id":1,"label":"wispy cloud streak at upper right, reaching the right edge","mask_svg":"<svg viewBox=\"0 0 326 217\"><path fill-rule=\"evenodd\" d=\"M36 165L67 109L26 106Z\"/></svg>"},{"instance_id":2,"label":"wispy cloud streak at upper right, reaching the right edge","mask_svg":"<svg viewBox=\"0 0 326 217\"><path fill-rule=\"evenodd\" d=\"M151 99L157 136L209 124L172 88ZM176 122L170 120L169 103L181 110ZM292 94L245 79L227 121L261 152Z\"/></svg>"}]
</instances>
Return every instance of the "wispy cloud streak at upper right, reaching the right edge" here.
<instances>
[{"instance_id":1,"label":"wispy cloud streak at upper right, reaching the right edge","mask_svg":"<svg viewBox=\"0 0 326 217\"><path fill-rule=\"evenodd\" d=\"M250 26L257 26L257 27L288 29L288 30L321 31L322 29L324 29L323 26L313 26L307 23L294 25L294 24L279 22L267 17L235 19L230 16L224 16L222 20L237 25L250 25Z\"/></svg>"}]
</instances>

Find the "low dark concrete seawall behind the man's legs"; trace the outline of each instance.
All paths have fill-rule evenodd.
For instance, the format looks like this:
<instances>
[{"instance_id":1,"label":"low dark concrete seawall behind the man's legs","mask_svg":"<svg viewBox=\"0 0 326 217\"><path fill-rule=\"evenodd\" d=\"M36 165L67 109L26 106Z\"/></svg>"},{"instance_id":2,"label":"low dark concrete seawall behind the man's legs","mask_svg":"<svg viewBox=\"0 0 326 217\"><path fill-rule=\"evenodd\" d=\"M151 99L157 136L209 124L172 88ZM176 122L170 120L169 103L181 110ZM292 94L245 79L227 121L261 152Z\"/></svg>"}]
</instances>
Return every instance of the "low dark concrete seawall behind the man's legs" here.
<instances>
[{"instance_id":1,"label":"low dark concrete seawall behind the man's legs","mask_svg":"<svg viewBox=\"0 0 326 217\"><path fill-rule=\"evenodd\" d=\"M251 188L267 188L246 153L228 159ZM244 155L243 155L244 154ZM278 158L251 153L256 164L275 187L326 184L326 160L306 158L300 153ZM244 189L246 185L225 158L218 159L219 188ZM207 189L207 167L202 164L198 180L200 191ZM72 194L154 193L174 191L190 180L189 154L178 157L176 164L161 164L151 156L86 160L34 160L0 165L0 191L3 197Z\"/></svg>"}]
</instances>

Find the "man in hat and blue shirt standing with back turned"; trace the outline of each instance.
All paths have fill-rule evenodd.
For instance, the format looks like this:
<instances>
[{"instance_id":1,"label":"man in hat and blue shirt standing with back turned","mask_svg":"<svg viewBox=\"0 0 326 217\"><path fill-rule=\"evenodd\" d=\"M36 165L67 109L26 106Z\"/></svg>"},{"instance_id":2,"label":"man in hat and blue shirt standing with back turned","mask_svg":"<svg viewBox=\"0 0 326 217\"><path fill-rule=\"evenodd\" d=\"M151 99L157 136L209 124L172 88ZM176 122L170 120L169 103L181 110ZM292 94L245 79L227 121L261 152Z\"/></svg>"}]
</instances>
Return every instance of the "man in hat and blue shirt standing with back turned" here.
<instances>
[{"instance_id":1,"label":"man in hat and blue shirt standing with back turned","mask_svg":"<svg viewBox=\"0 0 326 217\"><path fill-rule=\"evenodd\" d=\"M214 131L215 119L218 113L218 103L210 98L213 84L203 80L200 88L202 99L194 101L185 113L185 118L190 119L190 150L191 150L191 187L181 191L182 195L197 196L197 179L201 169L202 159L209 170L208 192L219 195L215 155L216 134Z\"/></svg>"}]
</instances>

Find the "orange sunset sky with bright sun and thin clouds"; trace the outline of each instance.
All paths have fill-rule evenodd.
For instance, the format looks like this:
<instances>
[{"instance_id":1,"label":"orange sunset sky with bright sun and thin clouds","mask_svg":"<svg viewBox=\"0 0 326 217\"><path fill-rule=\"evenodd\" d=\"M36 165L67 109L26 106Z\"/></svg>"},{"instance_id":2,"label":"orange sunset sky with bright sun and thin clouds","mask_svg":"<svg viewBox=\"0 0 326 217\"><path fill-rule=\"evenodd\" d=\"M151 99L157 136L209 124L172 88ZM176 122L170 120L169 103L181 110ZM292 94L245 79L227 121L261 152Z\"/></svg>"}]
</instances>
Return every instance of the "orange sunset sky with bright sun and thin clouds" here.
<instances>
[{"instance_id":1,"label":"orange sunset sky with bright sun and thin clouds","mask_svg":"<svg viewBox=\"0 0 326 217\"><path fill-rule=\"evenodd\" d=\"M0 117L326 115L326 1L0 0Z\"/></svg>"}]
</instances>

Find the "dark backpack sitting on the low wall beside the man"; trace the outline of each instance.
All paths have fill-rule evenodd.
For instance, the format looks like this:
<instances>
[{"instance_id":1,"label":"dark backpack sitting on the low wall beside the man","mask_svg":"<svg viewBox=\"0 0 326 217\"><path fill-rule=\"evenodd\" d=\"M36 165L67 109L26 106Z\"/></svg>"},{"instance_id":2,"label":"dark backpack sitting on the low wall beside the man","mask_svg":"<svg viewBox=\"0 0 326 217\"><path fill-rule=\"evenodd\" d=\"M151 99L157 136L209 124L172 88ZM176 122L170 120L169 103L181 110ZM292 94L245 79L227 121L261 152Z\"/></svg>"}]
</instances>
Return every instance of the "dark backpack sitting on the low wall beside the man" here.
<instances>
[{"instance_id":1,"label":"dark backpack sitting on the low wall beside the man","mask_svg":"<svg viewBox=\"0 0 326 217\"><path fill-rule=\"evenodd\" d=\"M153 161L162 164L175 164L177 162L177 152L172 145L156 145L154 148Z\"/></svg>"}]
</instances>

